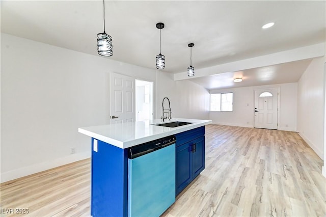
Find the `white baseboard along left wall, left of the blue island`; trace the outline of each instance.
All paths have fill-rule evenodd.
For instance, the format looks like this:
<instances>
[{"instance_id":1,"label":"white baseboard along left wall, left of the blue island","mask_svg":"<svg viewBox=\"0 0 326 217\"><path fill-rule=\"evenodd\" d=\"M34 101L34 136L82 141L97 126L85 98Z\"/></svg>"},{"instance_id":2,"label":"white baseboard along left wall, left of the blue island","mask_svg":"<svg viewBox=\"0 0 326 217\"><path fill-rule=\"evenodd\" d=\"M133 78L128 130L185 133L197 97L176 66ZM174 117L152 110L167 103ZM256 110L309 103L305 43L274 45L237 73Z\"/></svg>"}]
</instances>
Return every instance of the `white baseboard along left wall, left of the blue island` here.
<instances>
[{"instance_id":1,"label":"white baseboard along left wall, left of the blue island","mask_svg":"<svg viewBox=\"0 0 326 217\"><path fill-rule=\"evenodd\" d=\"M28 176L34 173L42 172L48 169L60 167L72 162L83 160L91 157L90 152L71 154L66 157L58 158L55 160L45 161L40 164L31 165L28 167L11 170L8 172L1 173L1 183L17 179L23 176Z\"/></svg>"}]
</instances>

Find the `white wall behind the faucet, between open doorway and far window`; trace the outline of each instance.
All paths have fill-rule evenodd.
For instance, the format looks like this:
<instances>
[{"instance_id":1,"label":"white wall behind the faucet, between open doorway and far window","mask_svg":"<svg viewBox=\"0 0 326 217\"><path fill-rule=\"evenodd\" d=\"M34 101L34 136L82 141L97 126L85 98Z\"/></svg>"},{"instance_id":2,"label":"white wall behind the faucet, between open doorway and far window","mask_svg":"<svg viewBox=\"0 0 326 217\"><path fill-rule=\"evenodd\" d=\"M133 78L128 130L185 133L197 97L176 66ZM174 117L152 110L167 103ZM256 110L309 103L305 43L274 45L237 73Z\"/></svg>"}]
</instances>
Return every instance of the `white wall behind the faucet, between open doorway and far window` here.
<instances>
[{"instance_id":1,"label":"white wall behind the faucet, between open doorway and far window","mask_svg":"<svg viewBox=\"0 0 326 217\"><path fill-rule=\"evenodd\" d=\"M157 73L157 117L162 115L162 99L168 97L171 102L172 118L209 118L209 92L189 80L174 82L173 75L159 71ZM165 106L168 103L165 102Z\"/></svg>"}]
</instances>

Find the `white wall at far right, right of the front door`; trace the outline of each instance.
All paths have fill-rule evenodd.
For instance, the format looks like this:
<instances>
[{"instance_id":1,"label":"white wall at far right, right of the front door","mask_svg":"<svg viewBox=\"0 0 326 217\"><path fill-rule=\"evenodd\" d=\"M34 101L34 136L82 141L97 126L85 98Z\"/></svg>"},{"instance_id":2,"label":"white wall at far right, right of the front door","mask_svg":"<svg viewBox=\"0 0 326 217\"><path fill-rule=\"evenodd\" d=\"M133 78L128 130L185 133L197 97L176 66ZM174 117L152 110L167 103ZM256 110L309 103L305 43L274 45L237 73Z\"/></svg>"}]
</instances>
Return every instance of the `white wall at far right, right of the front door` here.
<instances>
[{"instance_id":1,"label":"white wall at far right, right of the front door","mask_svg":"<svg viewBox=\"0 0 326 217\"><path fill-rule=\"evenodd\" d=\"M298 81L297 130L323 159L324 146L324 58L316 58Z\"/></svg>"}]
</instances>

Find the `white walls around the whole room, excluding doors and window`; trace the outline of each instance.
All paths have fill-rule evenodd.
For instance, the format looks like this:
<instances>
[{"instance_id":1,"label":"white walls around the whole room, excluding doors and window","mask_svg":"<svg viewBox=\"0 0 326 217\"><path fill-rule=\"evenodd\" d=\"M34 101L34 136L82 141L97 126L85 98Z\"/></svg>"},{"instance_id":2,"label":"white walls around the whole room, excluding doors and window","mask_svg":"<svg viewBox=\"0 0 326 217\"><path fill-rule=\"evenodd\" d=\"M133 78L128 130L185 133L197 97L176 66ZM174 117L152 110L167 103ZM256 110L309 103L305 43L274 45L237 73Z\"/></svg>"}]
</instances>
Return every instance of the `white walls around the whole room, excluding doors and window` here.
<instances>
[{"instance_id":1,"label":"white walls around the whole room, excluding doors and window","mask_svg":"<svg viewBox=\"0 0 326 217\"><path fill-rule=\"evenodd\" d=\"M318 155L323 153L322 64L320 59L311 63L297 94L296 83L263 86L281 88L280 129L296 130L296 105L300 106L298 130ZM163 71L2 33L1 182L90 156L90 138L77 128L110 122L110 72L153 82L156 118L167 96L172 117L253 127L253 91L258 87L226 90L236 93L237 108L233 115L213 114L209 113L209 92L189 80L174 82L172 74ZM307 113L312 107L317 109ZM72 147L76 154L70 154Z\"/></svg>"}]
</instances>

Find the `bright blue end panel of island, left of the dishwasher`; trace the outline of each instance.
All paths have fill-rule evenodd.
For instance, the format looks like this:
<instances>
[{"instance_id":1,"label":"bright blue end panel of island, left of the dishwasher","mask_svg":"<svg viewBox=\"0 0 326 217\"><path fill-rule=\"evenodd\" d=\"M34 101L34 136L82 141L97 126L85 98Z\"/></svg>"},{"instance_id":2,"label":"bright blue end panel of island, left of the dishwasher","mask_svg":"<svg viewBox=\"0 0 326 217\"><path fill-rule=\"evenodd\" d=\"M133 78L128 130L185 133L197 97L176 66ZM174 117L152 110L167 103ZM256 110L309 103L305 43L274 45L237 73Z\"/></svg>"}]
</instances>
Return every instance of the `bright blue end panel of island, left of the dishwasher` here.
<instances>
[{"instance_id":1,"label":"bright blue end panel of island, left of the dishwasher","mask_svg":"<svg viewBox=\"0 0 326 217\"><path fill-rule=\"evenodd\" d=\"M93 149L94 142L97 151ZM93 138L91 178L91 215L127 216L127 149Z\"/></svg>"}]
</instances>

